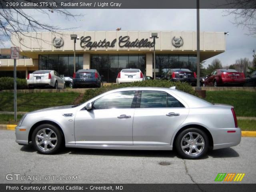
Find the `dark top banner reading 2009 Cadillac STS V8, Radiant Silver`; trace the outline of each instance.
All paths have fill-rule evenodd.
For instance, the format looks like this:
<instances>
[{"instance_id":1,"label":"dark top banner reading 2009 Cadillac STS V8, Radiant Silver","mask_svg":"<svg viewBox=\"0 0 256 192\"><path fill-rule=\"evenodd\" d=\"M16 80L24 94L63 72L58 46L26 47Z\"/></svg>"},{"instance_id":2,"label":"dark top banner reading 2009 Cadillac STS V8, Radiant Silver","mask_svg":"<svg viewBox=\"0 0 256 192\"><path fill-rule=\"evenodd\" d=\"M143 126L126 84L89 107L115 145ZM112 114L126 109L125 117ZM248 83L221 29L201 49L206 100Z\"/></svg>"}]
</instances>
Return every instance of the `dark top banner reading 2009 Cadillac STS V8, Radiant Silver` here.
<instances>
[{"instance_id":1,"label":"dark top banner reading 2009 Cadillac STS V8, Radiant Silver","mask_svg":"<svg viewBox=\"0 0 256 192\"><path fill-rule=\"evenodd\" d=\"M200 0L201 9L248 9L255 6L255 0ZM0 8L195 9L196 0L0 0Z\"/></svg>"}]
</instances>

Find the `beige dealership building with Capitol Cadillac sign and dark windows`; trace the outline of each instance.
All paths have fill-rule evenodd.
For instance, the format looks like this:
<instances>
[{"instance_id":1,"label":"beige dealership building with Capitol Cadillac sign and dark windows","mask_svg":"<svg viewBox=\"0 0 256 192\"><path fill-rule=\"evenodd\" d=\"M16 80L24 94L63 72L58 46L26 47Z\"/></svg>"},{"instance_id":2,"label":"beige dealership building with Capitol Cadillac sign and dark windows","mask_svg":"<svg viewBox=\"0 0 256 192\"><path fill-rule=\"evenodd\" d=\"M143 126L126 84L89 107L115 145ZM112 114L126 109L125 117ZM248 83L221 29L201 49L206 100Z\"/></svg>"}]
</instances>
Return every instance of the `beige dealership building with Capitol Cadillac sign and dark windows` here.
<instances>
[{"instance_id":1,"label":"beige dealership building with Capitol Cadillac sign and dark windows","mask_svg":"<svg viewBox=\"0 0 256 192\"><path fill-rule=\"evenodd\" d=\"M171 68L188 68L196 72L196 32L181 31L91 31L27 33L21 40L12 37L20 47L17 74L26 78L35 70L56 70L64 76L74 73L74 40L77 34L76 70L97 69L104 82L116 82L123 68L139 68L153 76L154 42L152 33L158 33L155 42L156 76L161 77ZM225 51L224 32L200 32L200 61ZM0 77L12 76L14 61L10 50L0 50Z\"/></svg>"}]
</instances>

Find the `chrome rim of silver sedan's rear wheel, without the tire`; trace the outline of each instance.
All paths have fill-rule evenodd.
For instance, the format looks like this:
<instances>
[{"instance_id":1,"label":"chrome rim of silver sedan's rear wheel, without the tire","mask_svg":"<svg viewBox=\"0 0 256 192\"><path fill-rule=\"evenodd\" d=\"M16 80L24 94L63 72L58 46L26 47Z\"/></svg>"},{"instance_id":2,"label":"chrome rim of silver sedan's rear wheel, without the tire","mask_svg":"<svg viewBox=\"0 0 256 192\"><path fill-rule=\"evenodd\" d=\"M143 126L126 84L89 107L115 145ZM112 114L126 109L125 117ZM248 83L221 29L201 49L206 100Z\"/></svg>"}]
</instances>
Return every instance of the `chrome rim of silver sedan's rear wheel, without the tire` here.
<instances>
[{"instance_id":1,"label":"chrome rim of silver sedan's rear wheel, without the tire","mask_svg":"<svg viewBox=\"0 0 256 192\"><path fill-rule=\"evenodd\" d=\"M197 156L204 150L204 138L196 132L188 132L181 140L183 152L189 156Z\"/></svg>"}]
</instances>

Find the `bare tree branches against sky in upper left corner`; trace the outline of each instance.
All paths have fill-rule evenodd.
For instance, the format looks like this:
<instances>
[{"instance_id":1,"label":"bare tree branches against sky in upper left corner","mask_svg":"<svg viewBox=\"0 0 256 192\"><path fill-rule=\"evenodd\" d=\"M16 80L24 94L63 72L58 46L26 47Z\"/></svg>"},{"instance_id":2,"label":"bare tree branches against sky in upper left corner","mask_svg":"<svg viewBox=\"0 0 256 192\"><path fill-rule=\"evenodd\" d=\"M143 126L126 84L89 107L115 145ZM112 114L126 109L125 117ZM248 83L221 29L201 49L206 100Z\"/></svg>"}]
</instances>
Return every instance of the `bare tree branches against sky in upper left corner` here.
<instances>
[{"instance_id":1,"label":"bare tree branches against sky in upper left corner","mask_svg":"<svg viewBox=\"0 0 256 192\"><path fill-rule=\"evenodd\" d=\"M26 2L40 3L41 0L24 0ZM8 2L17 2L17 0L9 0ZM6 0L0 0L0 7L6 7ZM60 6L58 6L60 7ZM51 14L58 14L60 17L64 17L67 20L72 18L76 19L82 14L72 14L66 9L56 9L53 6L47 6L48 9L40 9L40 6L34 6L34 10L42 14L42 17L51 17ZM0 44L4 44L6 41L12 41L11 36L16 36L18 42L27 47L22 42L22 37L29 37L35 40L42 40L37 34L31 36L27 32L40 32L47 31L52 33L58 33L60 30L67 30L72 28L61 28L60 26L54 26L48 23L44 23L34 19L32 15L27 14L24 9L17 9L14 6L10 6L10 9L0 9ZM44 40L45 41L45 40ZM15 44L14 44L15 45ZM16 45L18 46L18 45Z\"/></svg>"}]
</instances>

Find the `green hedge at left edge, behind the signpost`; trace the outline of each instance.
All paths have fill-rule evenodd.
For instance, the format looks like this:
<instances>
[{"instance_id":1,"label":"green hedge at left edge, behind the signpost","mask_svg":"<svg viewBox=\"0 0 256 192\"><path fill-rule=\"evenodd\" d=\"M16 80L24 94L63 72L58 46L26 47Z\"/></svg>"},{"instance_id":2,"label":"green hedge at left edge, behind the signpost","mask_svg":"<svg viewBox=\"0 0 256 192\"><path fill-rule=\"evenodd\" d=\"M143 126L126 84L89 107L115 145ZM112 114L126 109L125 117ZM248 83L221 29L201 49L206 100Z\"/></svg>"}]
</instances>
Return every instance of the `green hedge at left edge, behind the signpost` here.
<instances>
[{"instance_id":1,"label":"green hedge at left edge, behind the signpost","mask_svg":"<svg viewBox=\"0 0 256 192\"><path fill-rule=\"evenodd\" d=\"M17 89L26 89L26 79L16 80ZM0 78L0 90L13 90L14 89L14 78L13 77L1 77Z\"/></svg>"}]
</instances>

